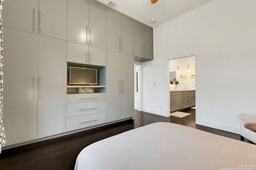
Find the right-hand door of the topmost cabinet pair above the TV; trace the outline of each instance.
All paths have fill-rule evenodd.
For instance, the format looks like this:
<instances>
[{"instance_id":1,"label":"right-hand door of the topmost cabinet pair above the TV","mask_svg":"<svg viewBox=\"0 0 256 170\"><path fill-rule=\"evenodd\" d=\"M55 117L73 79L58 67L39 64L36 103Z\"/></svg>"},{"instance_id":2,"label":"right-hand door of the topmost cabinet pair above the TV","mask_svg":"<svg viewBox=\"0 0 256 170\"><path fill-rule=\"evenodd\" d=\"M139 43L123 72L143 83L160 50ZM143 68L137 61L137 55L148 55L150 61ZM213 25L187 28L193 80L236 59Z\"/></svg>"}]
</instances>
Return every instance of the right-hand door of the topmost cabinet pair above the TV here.
<instances>
[{"instance_id":1,"label":"right-hand door of the topmost cabinet pair above the TV","mask_svg":"<svg viewBox=\"0 0 256 170\"><path fill-rule=\"evenodd\" d=\"M89 1L89 45L106 49L106 7Z\"/></svg>"}]
</instances>

